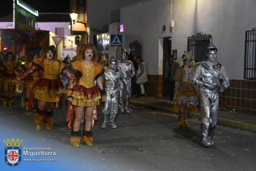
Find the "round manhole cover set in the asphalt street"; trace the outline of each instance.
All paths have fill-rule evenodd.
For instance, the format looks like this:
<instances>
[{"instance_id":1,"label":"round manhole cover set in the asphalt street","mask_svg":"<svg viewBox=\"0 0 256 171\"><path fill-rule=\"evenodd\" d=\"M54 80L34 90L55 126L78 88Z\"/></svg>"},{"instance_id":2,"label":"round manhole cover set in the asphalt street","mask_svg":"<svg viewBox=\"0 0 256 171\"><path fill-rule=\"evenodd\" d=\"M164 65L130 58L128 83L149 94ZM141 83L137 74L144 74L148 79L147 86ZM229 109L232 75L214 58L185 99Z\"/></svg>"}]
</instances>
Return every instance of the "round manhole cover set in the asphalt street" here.
<instances>
[{"instance_id":1,"label":"round manhole cover set in the asphalt street","mask_svg":"<svg viewBox=\"0 0 256 171\"><path fill-rule=\"evenodd\" d=\"M102 150L103 154L125 154L125 155L134 155L143 153L144 150L136 147L111 147Z\"/></svg>"}]
</instances>

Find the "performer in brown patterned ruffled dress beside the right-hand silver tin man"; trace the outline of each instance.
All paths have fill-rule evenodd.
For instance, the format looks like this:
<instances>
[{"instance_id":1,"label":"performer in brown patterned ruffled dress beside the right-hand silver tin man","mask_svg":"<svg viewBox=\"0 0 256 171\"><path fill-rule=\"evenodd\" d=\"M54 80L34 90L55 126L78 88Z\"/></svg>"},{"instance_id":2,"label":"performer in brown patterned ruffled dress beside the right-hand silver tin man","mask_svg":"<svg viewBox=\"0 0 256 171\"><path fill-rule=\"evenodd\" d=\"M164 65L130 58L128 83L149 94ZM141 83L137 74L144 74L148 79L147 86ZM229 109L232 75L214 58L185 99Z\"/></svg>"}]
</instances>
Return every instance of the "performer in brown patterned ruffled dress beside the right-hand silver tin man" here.
<instances>
[{"instance_id":1,"label":"performer in brown patterned ruffled dress beside the right-hand silver tin man","mask_svg":"<svg viewBox=\"0 0 256 171\"><path fill-rule=\"evenodd\" d=\"M198 105L198 95L191 82L195 73L195 60L191 52L186 52L181 60L181 65L177 68L174 76L175 96L174 112L179 113L178 123L180 127L189 128L189 113L195 113Z\"/></svg>"}]
</instances>

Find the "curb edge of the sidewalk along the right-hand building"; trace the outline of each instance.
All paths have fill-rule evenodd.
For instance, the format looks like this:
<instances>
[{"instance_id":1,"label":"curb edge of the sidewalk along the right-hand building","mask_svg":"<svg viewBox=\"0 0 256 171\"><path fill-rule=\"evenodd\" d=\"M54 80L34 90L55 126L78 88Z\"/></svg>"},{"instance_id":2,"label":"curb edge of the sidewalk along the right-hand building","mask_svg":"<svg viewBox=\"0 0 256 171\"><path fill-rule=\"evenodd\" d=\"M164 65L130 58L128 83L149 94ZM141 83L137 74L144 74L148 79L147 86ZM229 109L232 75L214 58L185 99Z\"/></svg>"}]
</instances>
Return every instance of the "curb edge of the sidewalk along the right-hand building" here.
<instances>
[{"instance_id":1,"label":"curb edge of the sidewalk along the right-hand building","mask_svg":"<svg viewBox=\"0 0 256 171\"><path fill-rule=\"evenodd\" d=\"M160 111L160 112L173 113L173 108L170 108L170 107L161 107L161 106L156 106L153 104L146 104L143 102L137 102L137 101L132 101L132 100L130 100L130 104L132 104L134 106L138 106L138 107L145 107L145 108ZM190 117L197 117L198 120L200 121L201 114L199 112L193 113L193 114L190 114ZM251 125L251 124L247 124L247 123L243 123L243 122L237 122L237 121L228 120L228 119L224 119L224 118L218 118L218 125L229 126L229 127L236 128L236 129L249 130L252 132L256 132L256 125Z\"/></svg>"}]
</instances>

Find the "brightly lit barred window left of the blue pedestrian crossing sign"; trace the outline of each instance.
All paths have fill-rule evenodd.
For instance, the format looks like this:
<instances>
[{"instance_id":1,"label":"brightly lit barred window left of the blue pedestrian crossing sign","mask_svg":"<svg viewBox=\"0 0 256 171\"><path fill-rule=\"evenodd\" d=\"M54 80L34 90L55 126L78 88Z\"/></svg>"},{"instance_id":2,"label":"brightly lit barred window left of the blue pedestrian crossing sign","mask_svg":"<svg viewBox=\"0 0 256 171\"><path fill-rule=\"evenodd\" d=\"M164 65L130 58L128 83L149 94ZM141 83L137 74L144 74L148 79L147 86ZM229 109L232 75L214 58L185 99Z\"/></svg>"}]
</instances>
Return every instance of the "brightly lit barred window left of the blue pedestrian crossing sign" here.
<instances>
[{"instance_id":1,"label":"brightly lit barred window left of the blue pedestrian crossing sign","mask_svg":"<svg viewBox=\"0 0 256 171\"><path fill-rule=\"evenodd\" d=\"M99 60L105 55L108 59L108 48L109 48L109 33L103 33L96 35L95 45L98 52Z\"/></svg>"}]
</instances>

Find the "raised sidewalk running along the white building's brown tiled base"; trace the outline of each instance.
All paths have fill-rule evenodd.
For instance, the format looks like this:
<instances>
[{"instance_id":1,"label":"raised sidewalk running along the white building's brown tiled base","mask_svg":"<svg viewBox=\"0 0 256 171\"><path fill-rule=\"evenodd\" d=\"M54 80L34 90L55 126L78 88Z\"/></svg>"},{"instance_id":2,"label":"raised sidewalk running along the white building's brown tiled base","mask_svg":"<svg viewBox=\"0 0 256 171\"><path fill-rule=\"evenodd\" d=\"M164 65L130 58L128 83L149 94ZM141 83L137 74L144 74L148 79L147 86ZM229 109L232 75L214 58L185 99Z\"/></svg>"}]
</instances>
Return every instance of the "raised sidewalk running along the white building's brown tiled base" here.
<instances>
[{"instance_id":1,"label":"raised sidewalk running along the white building's brown tiled base","mask_svg":"<svg viewBox=\"0 0 256 171\"><path fill-rule=\"evenodd\" d=\"M154 98L154 97L139 97L130 99L130 104L157 110L165 113L173 113L173 105L167 104L168 100ZM190 114L192 118L200 120L201 113L197 112ZM244 113L230 113L227 111L219 111L218 125L230 126L236 129L250 130L256 132L256 115L249 115Z\"/></svg>"}]
</instances>

